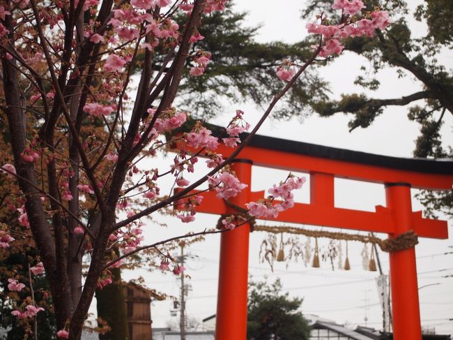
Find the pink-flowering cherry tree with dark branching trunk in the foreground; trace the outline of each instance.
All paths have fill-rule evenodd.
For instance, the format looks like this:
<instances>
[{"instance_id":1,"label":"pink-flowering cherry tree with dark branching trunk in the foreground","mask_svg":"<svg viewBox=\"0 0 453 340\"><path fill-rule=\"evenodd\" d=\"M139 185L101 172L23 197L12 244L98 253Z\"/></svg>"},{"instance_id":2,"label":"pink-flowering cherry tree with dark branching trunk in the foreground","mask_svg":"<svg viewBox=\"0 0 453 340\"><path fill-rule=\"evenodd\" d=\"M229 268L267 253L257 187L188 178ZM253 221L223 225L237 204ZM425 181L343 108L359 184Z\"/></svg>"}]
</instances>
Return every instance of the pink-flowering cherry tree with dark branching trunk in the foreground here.
<instances>
[{"instance_id":1,"label":"pink-flowering cherry tree with dark branching trunk in the foreground","mask_svg":"<svg viewBox=\"0 0 453 340\"><path fill-rule=\"evenodd\" d=\"M11 277L9 289L22 290L33 275L45 272L56 315L57 337L79 339L96 288L112 282L110 269L142 246L143 219L174 205L185 210L178 218L189 223L202 195L190 191L208 182L217 197L228 199L245 186L229 163L258 131L284 94L317 58L341 53L342 39L371 36L385 29L387 13L362 13L360 0L335 0L341 19L333 23L320 15L307 27L318 43L306 60L281 61L275 82L282 90L270 98L267 110L253 128L244 112L232 112L224 138L215 137L197 122L190 131L174 133L190 112L174 107L183 77L202 77L211 54L191 50L203 39L204 15L223 10L227 0L1 0L0 53L2 61L1 120L8 126L10 161L1 170L20 188L15 193L19 235L38 250L30 263L29 279ZM185 13L182 25L173 20ZM156 51L164 55L153 68ZM139 56L144 56L139 58ZM132 69L139 68L132 91ZM251 131L247 138L240 133ZM170 135L165 141L163 135ZM220 143L235 147L223 159ZM168 145L174 163L168 169L141 168ZM190 183L199 157L210 171ZM171 195L162 195L158 179L173 176ZM252 217L275 216L293 205L291 191L304 180L289 175L270 189L268 198L250 202ZM245 223L236 216L223 219L223 228L198 234L228 232ZM197 235L197 233L193 234ZM19 237L8 221L0 228L1 248ZM182 235L181 237L186 237ZM164 244L168 240L162 240ZM89 269L82 282L82 257ZM173 260L162 253L161 269ZM175 264L175 274L183 268ZM17 303L13 316L32 323L42 306L31 296ZM29 328L29 333L36 333Z\"/></svg>"}]
</instances>

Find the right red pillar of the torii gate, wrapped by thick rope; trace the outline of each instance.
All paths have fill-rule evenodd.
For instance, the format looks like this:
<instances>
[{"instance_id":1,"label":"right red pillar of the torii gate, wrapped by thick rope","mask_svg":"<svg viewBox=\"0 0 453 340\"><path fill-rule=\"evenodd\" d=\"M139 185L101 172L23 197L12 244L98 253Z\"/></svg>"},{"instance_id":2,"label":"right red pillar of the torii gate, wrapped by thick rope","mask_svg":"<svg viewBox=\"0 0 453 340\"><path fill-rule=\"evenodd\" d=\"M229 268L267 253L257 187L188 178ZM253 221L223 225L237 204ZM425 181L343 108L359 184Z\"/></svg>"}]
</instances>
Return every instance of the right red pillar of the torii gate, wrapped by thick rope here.
<instances>
[{"instance_id":1,"label":"right red pillar of the torii gate, wrapped by thick rope","mask_svg":"<svg viewBox=\"0 0 453 340\"><path fill-rule=\"evenodd\" d=\"M385 198L395 223L395 232L390 237L413 230L410 184L386 184ZM415 246L390 252L390 287L394 339L422 339Z\"/></svg>"}]
</instances>

